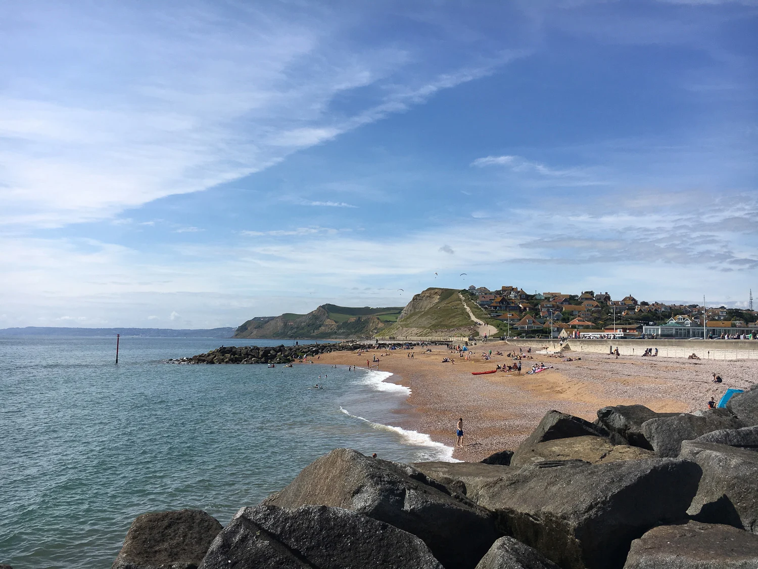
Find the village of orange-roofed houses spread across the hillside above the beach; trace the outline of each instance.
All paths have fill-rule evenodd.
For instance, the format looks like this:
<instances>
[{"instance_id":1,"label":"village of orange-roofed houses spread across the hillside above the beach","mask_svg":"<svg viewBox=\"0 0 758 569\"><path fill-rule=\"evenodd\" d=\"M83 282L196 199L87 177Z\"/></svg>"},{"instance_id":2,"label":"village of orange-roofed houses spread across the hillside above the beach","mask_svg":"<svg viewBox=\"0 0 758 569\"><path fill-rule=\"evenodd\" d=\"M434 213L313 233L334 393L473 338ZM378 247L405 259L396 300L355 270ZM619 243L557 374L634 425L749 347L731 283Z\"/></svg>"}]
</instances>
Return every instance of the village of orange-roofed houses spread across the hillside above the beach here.
<instances>
[{"instance_id":1,"label":"village of orange-roofed houses spread across the hillside above the beach","mask_svg":"<svg viewBox=\"0 0 758 569\"><path fill-rule=\"evenodd\" d=\"M512 286L490 291L471 285L466 292L487 315L487 323L496 325L499 332L509 336L550 335L552 332L553 336L564 338L608 335L625 338L643 334L660 338L703 338L703 328L708 338L758 335L758 312L754 310L650 303L637 300L631 294L613 300L607 292L595 291L528 294Z\"/></svg>"}]
</instances>

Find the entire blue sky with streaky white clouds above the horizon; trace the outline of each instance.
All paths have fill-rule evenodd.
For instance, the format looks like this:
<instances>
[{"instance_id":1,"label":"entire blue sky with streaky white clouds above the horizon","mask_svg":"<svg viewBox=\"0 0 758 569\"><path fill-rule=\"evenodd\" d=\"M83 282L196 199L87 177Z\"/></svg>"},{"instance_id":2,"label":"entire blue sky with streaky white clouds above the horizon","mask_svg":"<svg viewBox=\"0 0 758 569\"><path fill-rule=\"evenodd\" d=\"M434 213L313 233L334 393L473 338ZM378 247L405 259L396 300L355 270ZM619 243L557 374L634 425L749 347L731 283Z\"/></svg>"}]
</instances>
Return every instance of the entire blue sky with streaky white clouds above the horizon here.
<instances>
[{"instance_id":1,"label":"entire blue sky with streaky white clouds above the horizon","mask_svg":"<svg viewBox=\"0 0 758 569\"><path fill-rule=\"evenodd\" d=\"M758 296L756 2L0 10L0 327Z\"/></svg>"}]
</instances>

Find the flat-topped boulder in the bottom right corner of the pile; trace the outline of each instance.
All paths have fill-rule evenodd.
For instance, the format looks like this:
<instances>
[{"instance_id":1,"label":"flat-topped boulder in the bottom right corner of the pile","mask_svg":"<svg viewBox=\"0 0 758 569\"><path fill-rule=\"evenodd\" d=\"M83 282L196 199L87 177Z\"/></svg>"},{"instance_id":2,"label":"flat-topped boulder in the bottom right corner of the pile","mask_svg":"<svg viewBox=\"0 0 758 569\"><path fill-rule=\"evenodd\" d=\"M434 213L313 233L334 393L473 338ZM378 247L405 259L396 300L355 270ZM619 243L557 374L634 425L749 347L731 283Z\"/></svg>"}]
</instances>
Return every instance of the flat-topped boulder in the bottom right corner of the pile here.
<instances>
[{"instance_id":1,"label":"flat-topped boulder in the bottom right corner of the pile","mask_svg":"<svg viewBox=\"0 0 758 569\"><path fill-rule=\"evenodd\" d=\"M755 569L758 536L691 521L654 527L631 542L624 569Z\"/></svg>"}]
</instances>

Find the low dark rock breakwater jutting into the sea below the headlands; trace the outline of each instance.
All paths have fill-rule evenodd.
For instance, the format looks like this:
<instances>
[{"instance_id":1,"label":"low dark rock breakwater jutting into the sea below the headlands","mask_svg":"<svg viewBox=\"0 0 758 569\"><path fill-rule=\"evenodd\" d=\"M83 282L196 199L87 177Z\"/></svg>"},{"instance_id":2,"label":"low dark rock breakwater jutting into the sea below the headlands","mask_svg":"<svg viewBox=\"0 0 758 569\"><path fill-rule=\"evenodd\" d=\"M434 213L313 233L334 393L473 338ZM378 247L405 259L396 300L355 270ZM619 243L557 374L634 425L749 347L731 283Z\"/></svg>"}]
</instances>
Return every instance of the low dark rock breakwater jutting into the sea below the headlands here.
<instances>
[{"instance_id":1,"label":"low dark rock breakwater jutting into the sea below the headlands","mask_svg":"<svg viewBox=\"0 0 758 569\"><path fill-rule=\"evenodd\" d=\"M290 363L301 358L312 359L333 351L352 351L375 347L373 344L341 342L340 344L303 344L298 346L221 346L207 354L167 360L168 363Z\"/></svg>"}]
</instances>

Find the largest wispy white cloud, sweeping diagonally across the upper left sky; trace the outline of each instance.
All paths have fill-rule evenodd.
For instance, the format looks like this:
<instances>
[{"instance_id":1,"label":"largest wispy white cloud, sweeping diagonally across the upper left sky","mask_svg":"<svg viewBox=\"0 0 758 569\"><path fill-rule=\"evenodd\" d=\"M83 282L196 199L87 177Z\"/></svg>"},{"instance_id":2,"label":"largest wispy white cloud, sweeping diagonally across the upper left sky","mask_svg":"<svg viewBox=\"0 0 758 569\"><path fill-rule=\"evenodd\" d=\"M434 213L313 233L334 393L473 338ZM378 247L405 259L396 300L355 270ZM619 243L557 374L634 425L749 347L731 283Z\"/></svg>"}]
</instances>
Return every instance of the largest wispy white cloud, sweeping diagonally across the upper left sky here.
<instances>
[{"instance_id":1,"label":"largest wispy white cloud, sweeping diagonally across the upper left sky","mask_svg":"<svg viewBox=\"0 0 758 569\"><path fill-rule=\"evenodd\" d=\"M353 26L370 17L357 6L196 2L171 17L158 6L88 6L8 6L18 25L0 37L0 222L59 226L205 190L519 56L418 73L428 54L410 44L354 43ZM39 50L56 54L54 72ZM365 87L378 98L334 108Z\"/></svg>"}]
</instances>

